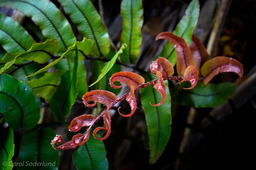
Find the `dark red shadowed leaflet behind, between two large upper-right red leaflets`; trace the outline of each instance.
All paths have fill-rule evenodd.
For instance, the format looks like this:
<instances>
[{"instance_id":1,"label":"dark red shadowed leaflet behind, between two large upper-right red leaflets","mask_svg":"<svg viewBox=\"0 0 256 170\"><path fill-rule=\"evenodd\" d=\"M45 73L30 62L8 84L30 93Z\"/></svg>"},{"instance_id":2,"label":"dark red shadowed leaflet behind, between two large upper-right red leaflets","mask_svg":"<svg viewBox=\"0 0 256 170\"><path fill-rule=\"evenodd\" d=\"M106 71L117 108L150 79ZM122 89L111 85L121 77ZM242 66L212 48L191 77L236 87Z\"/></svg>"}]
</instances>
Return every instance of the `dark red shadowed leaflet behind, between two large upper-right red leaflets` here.
<instances>
[{"instance_id":1,"label":"dark red shadowed leaflet behind, between two large upper-right red leaflets","mask_svg":"<svg viewBox=\"0 0 256 170\"><path fill-rule=\"evenodd\" d=\"M197 70L200 70L202 64L206 61L210 60L210 55L207 53L203 43L200 39L194 35L192 35L192 41L190 44L190 50L194 61L196 63Z\"/></svg>"}]
</instances>

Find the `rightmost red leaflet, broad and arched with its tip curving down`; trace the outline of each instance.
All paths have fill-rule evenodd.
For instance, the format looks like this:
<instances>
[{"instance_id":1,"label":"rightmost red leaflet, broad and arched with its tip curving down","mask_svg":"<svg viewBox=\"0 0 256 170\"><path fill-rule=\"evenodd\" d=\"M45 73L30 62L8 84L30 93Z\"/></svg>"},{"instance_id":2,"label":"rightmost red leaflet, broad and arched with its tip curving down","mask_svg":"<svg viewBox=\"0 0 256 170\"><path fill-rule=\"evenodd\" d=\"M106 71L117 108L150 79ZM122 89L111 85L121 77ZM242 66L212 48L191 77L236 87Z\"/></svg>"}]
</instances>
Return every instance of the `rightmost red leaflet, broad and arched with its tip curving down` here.
<instances>
[{"instance_id":1,"label":"rightmost red leaflet, broad and arched with its tip curving down","mask_svg":"<svg viewBox=\"0 0 256 170\"><path fill-rule=\"evenodd\" d=\"M202 76L204 76L202 85L207 84L214 76L222 72L235 72L241 77L244 73L244 68L239 61L230 57L210 59L201 68Z\"/></svg>"}]
</instances>

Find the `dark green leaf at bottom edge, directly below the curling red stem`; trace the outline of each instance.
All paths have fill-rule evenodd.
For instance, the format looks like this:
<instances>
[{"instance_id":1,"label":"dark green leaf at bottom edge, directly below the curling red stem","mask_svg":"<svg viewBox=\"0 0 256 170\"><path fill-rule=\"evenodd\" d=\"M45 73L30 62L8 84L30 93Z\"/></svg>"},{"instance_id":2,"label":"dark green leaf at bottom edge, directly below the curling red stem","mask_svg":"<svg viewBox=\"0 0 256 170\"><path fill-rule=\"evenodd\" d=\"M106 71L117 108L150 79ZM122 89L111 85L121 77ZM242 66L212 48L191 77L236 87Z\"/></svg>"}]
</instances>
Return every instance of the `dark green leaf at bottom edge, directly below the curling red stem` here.
<instances>
[{"instance_id":1,"label":"dark green leaf at bottom edge, directly below the curling red stem","mask_svg":"<svg viewBox=\"0 0 256 170\"><path fill-rule=\"evenodd\" d=\"M108 159L103 141L90 136L89 140L73 153L77 170L108 170Z\"/></svg>"}]
</instances>

